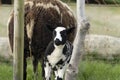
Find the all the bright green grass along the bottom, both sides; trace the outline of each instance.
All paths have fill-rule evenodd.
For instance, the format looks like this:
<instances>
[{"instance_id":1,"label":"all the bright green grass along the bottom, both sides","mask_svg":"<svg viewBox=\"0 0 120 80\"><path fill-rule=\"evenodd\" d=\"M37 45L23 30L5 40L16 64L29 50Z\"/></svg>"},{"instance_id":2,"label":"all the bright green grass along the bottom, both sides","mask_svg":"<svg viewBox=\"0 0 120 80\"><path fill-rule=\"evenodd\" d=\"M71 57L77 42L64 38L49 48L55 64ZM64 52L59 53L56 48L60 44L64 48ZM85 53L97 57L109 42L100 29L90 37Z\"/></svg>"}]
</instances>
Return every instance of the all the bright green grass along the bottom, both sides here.
<instances>
[{"instance_id":1,"label":"all the bright green grass along the bottom, both sides","mask_svg":"<svg viewBox=\"0 0 120 80\"><path fill-rule=\"evenodd\" d=\"M27 80L33 80L32 65L28 63ZM0 80L12 80L12 64L0 62ZM39 65L38 79L41 78ZM106 63L101 60L84 60L79 66L77 80L120 80L120 64Z\"/></svg>"}]
</instances>

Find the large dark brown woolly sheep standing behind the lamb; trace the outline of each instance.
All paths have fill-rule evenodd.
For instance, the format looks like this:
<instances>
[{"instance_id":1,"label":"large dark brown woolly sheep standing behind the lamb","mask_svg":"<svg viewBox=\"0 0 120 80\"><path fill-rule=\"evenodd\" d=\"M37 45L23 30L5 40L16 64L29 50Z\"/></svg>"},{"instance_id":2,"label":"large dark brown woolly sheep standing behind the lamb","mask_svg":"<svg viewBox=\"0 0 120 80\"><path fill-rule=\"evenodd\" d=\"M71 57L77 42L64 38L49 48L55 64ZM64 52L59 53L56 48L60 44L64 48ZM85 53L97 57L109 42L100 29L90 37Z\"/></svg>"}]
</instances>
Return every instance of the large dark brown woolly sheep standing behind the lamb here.
<instances>
[{"instance_id":1,"label":"large dark brown woolly sheep standing behind the lamb","mask_svg":"<svg viewBox=\"0 0 120 80\"><path fill-rule=\"evenodd\" d=\"M61 0L26 0L24 13L24 80L26 80L27 58L33 57L33 71L37 74L38 62L43 56L52 32L57 26L76 29L76 19L71 9ZM68 34L73 42L76 30ZM8 20L8 36L13 51L14 13Z\"/></svg>"}]
</instances>

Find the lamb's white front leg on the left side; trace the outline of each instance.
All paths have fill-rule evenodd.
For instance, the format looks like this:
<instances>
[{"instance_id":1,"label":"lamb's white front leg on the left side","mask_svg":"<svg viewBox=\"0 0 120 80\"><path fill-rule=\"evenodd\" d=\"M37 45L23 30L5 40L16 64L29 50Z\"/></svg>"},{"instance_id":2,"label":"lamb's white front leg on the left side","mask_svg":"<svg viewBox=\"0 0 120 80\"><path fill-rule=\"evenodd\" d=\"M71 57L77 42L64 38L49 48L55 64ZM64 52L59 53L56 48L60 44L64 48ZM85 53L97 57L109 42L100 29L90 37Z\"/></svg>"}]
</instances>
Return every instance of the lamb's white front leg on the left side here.
<instances>
[{"instance_id":1,"label":"lamb's white front leg on the left side","mask_svg":"<svg viewBox=\"0 0 120 80\"><path fill-rule=\"evenodd\" d=\"M44 71L45 71L45 75L44 78L45 80L51 80L51 66L48 62L44 63Z\"/></svg>"}]
</instances>

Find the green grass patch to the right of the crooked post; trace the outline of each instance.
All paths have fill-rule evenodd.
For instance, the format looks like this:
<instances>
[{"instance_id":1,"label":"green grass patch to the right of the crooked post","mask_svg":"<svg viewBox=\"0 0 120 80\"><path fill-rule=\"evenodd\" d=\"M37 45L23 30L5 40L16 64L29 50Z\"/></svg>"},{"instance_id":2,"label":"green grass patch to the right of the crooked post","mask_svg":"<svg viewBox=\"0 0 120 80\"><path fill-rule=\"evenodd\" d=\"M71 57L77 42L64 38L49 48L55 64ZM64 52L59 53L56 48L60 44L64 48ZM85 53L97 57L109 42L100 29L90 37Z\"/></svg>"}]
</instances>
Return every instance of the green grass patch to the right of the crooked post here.
<instances>
[{"instance_id":1,"label":"green grass patch to the right of the crooked post","mask_svg":"<svg viewBox=\"0 0 120 80\"><path fill-rule=\"evenodd\" d=\"M120 64L103 61L82 61L77 80L120 80Z\"/></svg>"}]
</instances>

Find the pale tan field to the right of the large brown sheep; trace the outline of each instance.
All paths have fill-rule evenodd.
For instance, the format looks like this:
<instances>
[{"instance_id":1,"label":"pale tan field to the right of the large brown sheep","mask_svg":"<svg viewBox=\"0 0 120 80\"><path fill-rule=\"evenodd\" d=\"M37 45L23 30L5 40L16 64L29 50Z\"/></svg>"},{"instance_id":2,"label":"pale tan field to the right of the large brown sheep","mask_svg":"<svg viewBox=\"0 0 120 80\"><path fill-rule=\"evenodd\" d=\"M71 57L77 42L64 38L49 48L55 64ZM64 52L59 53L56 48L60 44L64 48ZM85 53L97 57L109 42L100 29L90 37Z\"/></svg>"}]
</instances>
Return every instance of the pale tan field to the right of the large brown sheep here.
<instances>
[{"instance_id":1,"label":"pale tan field to the right of the large brown sheep","mask_svg":"<svg viewBox=\"0 0 120 80\"><path fill-rule=\"evenodd\" d=\"M69 4L73 11L76 5ZM120 37L120 7L115 5L86 5L86 16L90 21L90 34ZM74 12L74 14L76 14Z\"/></svg>"}]
</instances>

